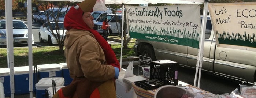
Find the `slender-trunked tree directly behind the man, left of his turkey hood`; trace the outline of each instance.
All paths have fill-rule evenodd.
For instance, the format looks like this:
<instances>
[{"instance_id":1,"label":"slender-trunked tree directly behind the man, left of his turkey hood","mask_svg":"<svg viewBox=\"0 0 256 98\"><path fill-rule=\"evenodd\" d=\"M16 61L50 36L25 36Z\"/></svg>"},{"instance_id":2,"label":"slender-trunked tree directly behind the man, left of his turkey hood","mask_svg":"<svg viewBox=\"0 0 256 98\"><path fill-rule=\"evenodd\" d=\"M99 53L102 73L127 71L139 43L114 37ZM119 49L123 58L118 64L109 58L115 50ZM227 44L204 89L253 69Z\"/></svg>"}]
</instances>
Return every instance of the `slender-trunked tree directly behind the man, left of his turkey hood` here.
<instances>
[{"instance_id":1,"label":"slender-trunked tree directly behind the man, left of his turkey hood","mask_svg":"<svg viewBox=\"0 0 256 98\"><path fill-rule=\"evenodd\" d=\"M52 26L50 26L50 29L51 29L50 32L55 37L55 39L57 39L57 42L58 42L58 45L59 45L59 51L64 52L65 37L61 37L61 35L64 35L65 32L64 31L60 32L60 28L58 26L59 25L58 18L59 18L59 15L60 15L60 11L62 10L63 7L70 7L70 5L74 5L76 3L71 3L71 2L68 2L68 1L37 1L37 4L38 4L38 9L40 9L42 11L45 11L45 16L47 18L48 24L50 25L50 22L55 22L56 23L55 24L55 26L56 26L55 31L56 31L57 34L53 33ZM56 11L57 15L54 16L53 15L53 10L56 7L59 7L59 8ZM67 12L67 10L66 10L66 12ZM51 18L49 16L51 16Z\"/></svg>"}]
</instances>

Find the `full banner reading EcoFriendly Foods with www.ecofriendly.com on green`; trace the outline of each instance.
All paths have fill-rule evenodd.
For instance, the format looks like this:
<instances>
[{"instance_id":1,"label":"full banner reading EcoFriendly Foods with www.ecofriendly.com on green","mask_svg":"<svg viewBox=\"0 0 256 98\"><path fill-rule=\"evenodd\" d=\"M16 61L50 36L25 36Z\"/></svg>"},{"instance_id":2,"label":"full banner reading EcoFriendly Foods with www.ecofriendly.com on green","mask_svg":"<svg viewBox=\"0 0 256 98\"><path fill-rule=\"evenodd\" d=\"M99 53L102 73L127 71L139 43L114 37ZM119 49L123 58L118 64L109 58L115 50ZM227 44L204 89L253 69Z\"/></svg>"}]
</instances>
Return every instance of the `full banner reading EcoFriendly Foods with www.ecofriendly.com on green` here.
<instances>
[{"instance_id":1,"label":"full banner reading EcoFriendly Foods with www.ecofriendly.com on green","mask_svg":"<svg viewBox=\"0 0 256 98\"><path fill-rule=\"evenodd\" d=\"M131 38L199 47L198 4L157 7L126 6Z\"/></svg>"}]
</instances>

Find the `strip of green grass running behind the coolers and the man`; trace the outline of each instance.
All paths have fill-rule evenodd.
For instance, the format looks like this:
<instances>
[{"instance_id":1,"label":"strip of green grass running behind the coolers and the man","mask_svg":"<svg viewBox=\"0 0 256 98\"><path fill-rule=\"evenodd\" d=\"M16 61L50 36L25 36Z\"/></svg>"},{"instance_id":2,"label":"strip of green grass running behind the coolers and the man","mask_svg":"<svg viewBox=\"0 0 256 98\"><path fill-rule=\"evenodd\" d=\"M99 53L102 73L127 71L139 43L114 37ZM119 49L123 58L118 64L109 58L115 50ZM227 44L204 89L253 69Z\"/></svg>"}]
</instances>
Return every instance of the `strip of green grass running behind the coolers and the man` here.
<instances>
[{"instance_id":1,"label":"strip of green grass running behind the coolers and the man","mask_svg":"<svg viewBox=\"0 0 256 98\"><path fill-rule=\"evenodd\" d=\"M128 48L123 48L122 58L135 56L133 51L134 43L129 43ZM112 44L116 57L120 58L121 44ZM28 65L28 47L14 48L14 67ZM62 63L66 62L63 52L59 52L58 46L33 47L33 65ZM0 48L0 68L7 68L7 50Z\"/></svg>"}]
</instances>

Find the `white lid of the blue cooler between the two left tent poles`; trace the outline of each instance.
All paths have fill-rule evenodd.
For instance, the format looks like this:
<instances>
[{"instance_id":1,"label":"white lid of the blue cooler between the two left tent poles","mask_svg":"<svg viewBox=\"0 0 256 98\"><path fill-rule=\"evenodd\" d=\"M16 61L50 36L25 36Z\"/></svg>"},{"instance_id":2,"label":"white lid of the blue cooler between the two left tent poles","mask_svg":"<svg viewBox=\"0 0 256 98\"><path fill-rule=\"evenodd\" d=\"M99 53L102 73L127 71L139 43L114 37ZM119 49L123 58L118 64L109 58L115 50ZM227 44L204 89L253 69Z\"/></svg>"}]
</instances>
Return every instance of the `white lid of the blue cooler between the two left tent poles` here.
<instances>
[{"instance_id":1,"label":"white lid of the blue cooler between the two left tent poles","mask_svg":"<svg viewBox=\"0 0 256 98\"><path fill-rule=\"evenodd\" d=\"M34 73L34 66L32 66L32 71ZM29 66L14 67L14 75L21 75L21 74L28 74L28 73L29 73Z\"/></svg>"}]
</instances>

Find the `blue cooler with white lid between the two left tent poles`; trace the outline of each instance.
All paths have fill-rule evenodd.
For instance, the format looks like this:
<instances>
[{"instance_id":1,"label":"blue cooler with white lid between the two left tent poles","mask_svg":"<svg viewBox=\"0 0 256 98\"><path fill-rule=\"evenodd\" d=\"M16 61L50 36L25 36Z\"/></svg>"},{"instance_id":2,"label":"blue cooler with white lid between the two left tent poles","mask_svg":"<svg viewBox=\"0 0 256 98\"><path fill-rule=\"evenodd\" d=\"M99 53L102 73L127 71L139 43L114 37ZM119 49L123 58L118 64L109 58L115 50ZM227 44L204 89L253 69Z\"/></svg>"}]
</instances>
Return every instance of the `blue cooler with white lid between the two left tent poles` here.
<instances>
[{"instance_id":1,"label":"blue cooler with white lid between the two left tent poles","mask_svg":"<svg viewBox=\"0 0 256 98\"><path fill-rule=\"evenodd\" d=\"M34 66L32 67L32 72L34 78ZM33 91L35 91L34 79L33 82ZM15 88L15 95L21 94L29 94L29 66L20 66L14 67L14 88Z\"/></svg>"}]
</instances>

